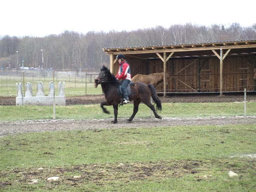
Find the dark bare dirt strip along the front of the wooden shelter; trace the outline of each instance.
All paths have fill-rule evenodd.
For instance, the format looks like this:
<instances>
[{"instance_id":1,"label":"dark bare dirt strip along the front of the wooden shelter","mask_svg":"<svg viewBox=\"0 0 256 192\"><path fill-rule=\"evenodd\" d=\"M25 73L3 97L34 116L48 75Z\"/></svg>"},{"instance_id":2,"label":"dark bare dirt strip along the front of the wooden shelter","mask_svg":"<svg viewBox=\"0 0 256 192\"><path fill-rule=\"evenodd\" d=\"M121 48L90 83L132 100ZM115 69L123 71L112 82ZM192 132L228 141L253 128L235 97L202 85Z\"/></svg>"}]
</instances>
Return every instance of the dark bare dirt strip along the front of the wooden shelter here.
<instances>
[{"instance_id":1,"label":"dark bare dirt strip along the front of the wooden shelter","mask_svg":"<svg viewBox=\"0 0 256 192\"><path fill-rule=\"evenodd\" d=\"M76 104L97 104L104 101L104 95L84 95L84 96L72 96L66 97L66 105L76 105ZM242 102L244 101L244 96L240 95L175 95L160 97L162 103L206 103L206 102ZM256 102L256 95L247 95L247 101ZM0 97L0 105L15 105L15 97Z\"/></svg>"}]
</instances>

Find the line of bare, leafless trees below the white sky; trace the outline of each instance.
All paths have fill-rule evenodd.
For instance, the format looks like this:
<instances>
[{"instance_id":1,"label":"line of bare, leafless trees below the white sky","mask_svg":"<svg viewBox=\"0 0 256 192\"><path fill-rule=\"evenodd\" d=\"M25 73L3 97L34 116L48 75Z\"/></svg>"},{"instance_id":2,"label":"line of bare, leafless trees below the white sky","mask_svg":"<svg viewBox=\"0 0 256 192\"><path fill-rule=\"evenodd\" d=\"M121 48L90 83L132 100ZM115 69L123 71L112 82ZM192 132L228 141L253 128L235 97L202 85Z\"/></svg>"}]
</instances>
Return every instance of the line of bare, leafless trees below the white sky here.
<instances>
[{"instance_id":1,"label":"line of bare, leafless trees below the white sky","mask_svg":"<svg viewBox=\"0 0 256 192\"><path fill-rule=\"evenodd\" d=\"M204 43L213 41L233 41L256 39L256 23L243 27L238 23L230 26L211 25L171 25L169 28L156 26L135 31L109 31L86 34L65 31L61 34L45 37L0 37L0 66L17 67L22 58L25 66L38 67L42 63L44 53L44 68L59 70L99 69L102 64L109 65L109 56L102 48L148 46L166 44Z\"/></svg>"}]
</instances>

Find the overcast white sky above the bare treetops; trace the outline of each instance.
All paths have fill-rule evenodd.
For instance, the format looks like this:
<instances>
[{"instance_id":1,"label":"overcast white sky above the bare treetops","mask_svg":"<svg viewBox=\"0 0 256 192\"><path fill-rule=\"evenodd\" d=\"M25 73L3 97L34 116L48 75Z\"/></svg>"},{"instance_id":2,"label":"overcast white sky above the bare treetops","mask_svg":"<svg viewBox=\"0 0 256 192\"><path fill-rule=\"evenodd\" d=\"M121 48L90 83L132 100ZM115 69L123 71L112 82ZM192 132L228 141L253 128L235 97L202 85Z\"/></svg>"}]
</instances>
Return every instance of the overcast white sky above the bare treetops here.
<instances>
[{"instance_id":1,"label":"overcast white sky above the bare treetops","mask_svg":"<svg viewBox=\"0 0 256 192\"><path fill-rule=\"evenodd\" d=\"M256 23L256 0L1 0L0 6L1 36Z\"/></svg>"}]
</instances>

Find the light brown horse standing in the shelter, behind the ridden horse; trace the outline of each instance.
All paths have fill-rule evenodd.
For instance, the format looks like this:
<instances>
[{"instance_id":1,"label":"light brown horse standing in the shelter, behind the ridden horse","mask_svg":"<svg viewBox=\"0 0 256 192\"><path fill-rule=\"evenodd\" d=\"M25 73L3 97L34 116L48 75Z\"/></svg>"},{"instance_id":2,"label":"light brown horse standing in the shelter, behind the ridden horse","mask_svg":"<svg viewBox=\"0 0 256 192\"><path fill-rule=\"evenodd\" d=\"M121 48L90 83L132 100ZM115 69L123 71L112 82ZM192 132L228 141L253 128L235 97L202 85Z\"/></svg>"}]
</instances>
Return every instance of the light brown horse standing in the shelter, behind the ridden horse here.
<instances>
[{"instance_id":1,"label":"light brown horse standing in the shelter, behind the ridden horse","mask_svg":"<svg viewBox=\"0 0 256 192\"><path fill-rule=\"evenodd\" d=\"M169 78L168 73L166 73L166 78ZM145 84L152 84L154 87L164 79L164 73L152 73L149 75L137 74L132 78L132 82L142 82ZM166 81L168 82L168 81Z\"/></svg>"}]
</instances>

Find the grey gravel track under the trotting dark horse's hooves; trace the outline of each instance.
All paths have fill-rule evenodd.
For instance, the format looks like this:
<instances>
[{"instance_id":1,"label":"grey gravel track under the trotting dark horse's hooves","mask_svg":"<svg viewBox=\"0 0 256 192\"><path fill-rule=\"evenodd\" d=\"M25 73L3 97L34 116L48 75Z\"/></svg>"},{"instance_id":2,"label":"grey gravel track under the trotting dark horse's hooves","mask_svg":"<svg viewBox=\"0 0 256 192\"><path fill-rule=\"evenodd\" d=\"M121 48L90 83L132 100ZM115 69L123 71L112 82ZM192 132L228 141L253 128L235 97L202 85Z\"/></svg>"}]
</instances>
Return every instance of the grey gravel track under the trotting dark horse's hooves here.
<instances>
[{"instance_id":1,"label":"grey gravel track under the trotting dark horse's hooves","mask_svg":"<svg viewBox=\"0 0 256 192\"><path fill-rule=\"evenodd\" d=\"M38 120L0 122L0 136L27 133L45 132L58 130L81 130L81 129L115 129L137 127L167 127L167 126L193 126L193 125L225 125L225 124L254 124L256 116L236 117L200 117L200 118L163 118L159 119L134 119L127 123L126 119L119 119L117 124L112 124L113 119L102 120Z\"/></svg>"}]
</instances>

